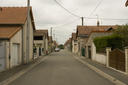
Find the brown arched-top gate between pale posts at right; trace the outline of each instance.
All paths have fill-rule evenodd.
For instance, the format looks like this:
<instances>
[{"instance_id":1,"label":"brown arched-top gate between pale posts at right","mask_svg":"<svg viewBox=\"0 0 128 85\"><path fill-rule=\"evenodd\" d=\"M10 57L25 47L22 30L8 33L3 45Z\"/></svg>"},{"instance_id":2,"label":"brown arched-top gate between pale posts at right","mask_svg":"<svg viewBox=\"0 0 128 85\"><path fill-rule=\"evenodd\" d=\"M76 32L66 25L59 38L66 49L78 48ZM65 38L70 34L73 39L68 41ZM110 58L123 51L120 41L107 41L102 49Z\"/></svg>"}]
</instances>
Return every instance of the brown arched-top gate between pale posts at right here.
<instances>
[{"instance_id":1,"label":"brown arched-top gate between pale posts at right","mask_svg":"<svg viewBox=\"0 0 128 85\"><path fill-rule=\"evenodd\" d=\"M109 53L109 66L125 72L125 53L114 49Z\"/></svg>"}]
</instances>

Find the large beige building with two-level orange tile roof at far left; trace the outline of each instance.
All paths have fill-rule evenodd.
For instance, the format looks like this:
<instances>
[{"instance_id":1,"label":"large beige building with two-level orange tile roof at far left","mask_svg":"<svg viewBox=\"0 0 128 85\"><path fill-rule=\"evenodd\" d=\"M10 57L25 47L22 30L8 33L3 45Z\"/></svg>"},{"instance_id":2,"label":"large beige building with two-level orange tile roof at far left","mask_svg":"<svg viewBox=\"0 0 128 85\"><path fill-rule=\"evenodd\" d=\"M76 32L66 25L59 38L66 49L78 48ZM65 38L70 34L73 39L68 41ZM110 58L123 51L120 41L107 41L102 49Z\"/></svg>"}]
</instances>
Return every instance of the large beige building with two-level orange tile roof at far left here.
<instances>
[{"instance_id":1,"label":"large beige building with two-level orange tile roof at far left","mask_svg":"<svg viewBox=\"0 0 128 85\"><path fill-rule=\"evenodd\" d=\"M29 19L30 24L27 28L27 7L1 7L0 69L3 67L9 69L32 61L33 30L35 30L32 8Z\"/></svg>"}]
</instances>

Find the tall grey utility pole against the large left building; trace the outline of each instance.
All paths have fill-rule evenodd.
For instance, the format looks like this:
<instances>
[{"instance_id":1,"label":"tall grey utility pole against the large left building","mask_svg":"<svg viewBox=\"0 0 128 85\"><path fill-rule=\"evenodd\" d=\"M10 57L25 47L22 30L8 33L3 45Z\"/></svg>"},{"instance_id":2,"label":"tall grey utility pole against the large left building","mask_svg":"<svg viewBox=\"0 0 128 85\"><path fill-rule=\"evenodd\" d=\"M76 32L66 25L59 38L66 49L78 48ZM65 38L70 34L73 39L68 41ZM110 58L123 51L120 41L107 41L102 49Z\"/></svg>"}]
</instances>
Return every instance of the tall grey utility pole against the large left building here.
<instances>
[{"instance_id":1,"label":"tall grey utility pole against the large left building","mask_svg":"<svg viewBox=\"0 0 128 85\"><path fill-rule=\"evenodd\" d=\"M26 63L29 62L29 36L30 36L30 0L27 1Z\"/></svg>"}]
</instances>

